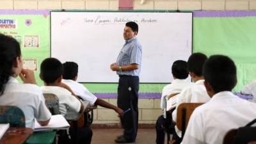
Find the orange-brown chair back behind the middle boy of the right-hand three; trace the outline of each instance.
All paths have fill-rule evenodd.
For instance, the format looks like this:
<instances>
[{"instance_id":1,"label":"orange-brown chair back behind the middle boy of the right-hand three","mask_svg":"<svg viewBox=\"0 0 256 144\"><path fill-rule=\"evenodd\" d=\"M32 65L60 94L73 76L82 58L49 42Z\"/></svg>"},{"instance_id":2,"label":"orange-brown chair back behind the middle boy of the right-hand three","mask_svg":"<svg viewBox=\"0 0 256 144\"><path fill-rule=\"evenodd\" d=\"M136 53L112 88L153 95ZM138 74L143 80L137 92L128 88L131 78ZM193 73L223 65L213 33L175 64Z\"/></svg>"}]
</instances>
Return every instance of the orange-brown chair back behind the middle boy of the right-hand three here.
<instances>
[{"instance_id":1,"label":"orange-brown chair back behind the middle boy of the right-hand three","mask_svg":"<svg viewBox=\"0 0 256 144\"><path fill-rule=\"evenodd\" d=\"M186 127L188 125L189 118L193 111L195 110L196 107L202 105L204 103L182 103L178 106L177 109L177 127L180 131L182 131L182 136L183 138Z\"/></svg>"}]
</instances>

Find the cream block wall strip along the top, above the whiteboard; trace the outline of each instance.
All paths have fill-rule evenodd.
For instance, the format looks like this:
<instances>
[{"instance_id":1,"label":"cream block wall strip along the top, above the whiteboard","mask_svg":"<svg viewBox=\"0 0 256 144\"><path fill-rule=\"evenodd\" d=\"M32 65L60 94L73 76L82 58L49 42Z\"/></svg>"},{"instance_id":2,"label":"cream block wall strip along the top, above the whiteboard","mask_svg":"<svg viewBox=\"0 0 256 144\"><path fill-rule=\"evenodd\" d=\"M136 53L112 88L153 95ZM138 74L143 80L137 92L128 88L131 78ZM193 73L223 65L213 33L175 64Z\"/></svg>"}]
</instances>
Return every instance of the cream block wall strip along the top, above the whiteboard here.
<instances>
[{"instance_id":1,"label":"cream block wall strip along the top, above the whiteboard","mask_svg":"<svg viewBox=\"0 0 256 144\"><path fill-rule=\"evenodd\" d=\"M255 0L145 0L134 10L256 10ZM0 0L0 10L118 10L117 0Z\"/></svg>"}]
</instances>

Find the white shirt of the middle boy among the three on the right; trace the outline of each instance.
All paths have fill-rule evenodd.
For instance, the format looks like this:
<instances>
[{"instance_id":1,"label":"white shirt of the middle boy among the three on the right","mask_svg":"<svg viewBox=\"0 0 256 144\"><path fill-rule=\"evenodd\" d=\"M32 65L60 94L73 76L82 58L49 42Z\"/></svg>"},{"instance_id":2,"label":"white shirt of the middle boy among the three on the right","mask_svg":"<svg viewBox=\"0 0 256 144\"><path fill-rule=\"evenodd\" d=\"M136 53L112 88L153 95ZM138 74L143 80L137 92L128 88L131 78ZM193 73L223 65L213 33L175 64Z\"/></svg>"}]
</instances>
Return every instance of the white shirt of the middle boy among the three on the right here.
<instances>
[{"instance_id":1,"label":"white shirt of the middle boy among the three on the right","mask_svg":"<svg viewBox=\"0 0 256 144\"><path fill-rule=\"evenodd\" d=\"M177 120L177 108L180 104L186 102L208 102L210 99L211 97L209 97L204 86L204 79L198 80L190 86L184 88L177 95L176 109L172 113L173 121L176 122Z\"/></svg>"}]
</instances>

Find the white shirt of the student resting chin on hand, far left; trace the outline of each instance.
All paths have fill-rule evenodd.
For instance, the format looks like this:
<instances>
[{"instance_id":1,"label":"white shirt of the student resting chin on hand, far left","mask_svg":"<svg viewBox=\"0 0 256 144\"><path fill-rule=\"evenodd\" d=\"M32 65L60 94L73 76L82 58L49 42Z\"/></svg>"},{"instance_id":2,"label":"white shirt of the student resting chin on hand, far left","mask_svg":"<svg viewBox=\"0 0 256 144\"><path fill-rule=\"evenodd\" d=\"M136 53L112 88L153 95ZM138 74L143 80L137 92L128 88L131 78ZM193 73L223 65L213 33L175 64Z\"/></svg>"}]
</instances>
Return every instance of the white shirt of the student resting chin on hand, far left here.
<instances>
[{"instance_id":1,"label":"white shirt of the student resting chin on hand, far left","mask_svg":"<svg viewBox=\"0 0 256 144\"><path fill-rule=\"evenodd\" d=\"M45 106L42 90L35 84L22 84L14 77L10 77L0 95L0 106L17 106L26 119L26 127L34 129L35 118L46 121L51 118L51 112Z\"/></svg>"}]
</instances>

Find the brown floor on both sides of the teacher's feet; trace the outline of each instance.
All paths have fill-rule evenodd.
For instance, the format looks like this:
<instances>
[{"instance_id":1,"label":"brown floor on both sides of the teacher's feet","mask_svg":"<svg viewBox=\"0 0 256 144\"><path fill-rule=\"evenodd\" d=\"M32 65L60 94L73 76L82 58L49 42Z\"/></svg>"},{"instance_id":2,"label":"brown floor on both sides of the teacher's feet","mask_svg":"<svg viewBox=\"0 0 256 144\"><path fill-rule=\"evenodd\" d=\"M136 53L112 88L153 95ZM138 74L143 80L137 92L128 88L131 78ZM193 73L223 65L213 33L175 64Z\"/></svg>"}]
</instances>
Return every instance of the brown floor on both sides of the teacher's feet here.
<instances>
[{"instance_id":1,"label":"brown floor on both sides of the teacher's feet","mask_svg":"<svg viewBox=\"0 0 256 144\"><path fill-rule=\"evenodd\" d=\"M92 144L114 144L122 129L93 129ZM136 144L155 144L155 129L138 129Z\"/></svg>"}]
</instances>

